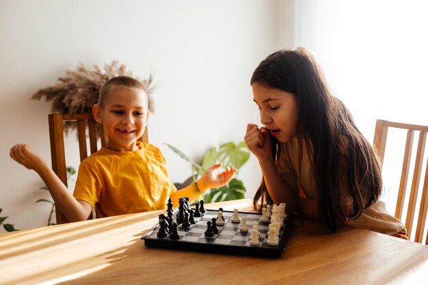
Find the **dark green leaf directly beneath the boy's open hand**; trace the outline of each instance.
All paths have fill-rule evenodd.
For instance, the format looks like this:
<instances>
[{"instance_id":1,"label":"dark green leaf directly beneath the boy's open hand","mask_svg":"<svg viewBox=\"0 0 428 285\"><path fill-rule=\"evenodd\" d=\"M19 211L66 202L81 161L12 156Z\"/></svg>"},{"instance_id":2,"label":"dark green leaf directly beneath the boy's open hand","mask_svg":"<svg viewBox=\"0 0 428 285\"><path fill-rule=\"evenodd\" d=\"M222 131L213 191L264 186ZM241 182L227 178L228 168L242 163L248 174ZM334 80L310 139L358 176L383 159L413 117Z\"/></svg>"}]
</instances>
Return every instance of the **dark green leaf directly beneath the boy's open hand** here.
<instances>
[{"instance_id":1,"label":"dark green leaf directly beneath the boy's open hand","mask_svg":"<svg viewBox=\"0 0 428 285\"><path fill-rule=\"evenodd\" d=\"M222 202L230 200L243 199L245 194L245 187L243 182L236 178L230 180L228 185L217 189L211 189L209 193L204 195L204 201L206 203Z\"/></svg>"}]
</instances>

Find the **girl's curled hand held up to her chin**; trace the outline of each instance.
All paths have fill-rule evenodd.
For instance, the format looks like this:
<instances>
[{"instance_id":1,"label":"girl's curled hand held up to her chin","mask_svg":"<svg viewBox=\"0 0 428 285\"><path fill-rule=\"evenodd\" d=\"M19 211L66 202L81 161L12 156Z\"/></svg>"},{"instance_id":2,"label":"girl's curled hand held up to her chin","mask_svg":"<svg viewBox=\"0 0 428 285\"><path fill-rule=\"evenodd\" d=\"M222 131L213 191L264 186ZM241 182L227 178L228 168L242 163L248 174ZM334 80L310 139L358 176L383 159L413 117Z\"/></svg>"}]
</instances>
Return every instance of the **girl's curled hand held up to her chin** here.
<instances>
[{"instance_id":1,"label":"girl's curled hand held up to her chin","mask_svg":"<svg viewBox=\"0 0 428 285\"><path fill-rule=\"evenodd\" d=\"M272 159L271 137L269 137L267 129L264 126L258 128L256 124L248 124L244 141L248 149L257 157L258 161L269 161Z\"/></svg>"}]
</instances>

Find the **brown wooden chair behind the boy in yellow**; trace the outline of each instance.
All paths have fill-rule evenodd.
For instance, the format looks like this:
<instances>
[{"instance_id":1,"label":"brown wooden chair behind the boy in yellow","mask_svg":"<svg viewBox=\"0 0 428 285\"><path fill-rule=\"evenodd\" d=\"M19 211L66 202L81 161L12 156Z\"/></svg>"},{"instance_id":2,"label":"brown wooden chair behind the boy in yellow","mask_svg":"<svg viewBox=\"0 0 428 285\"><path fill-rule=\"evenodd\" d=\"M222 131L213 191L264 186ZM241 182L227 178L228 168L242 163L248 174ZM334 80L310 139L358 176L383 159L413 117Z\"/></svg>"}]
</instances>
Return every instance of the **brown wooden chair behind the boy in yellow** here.
<instances>
[{"instance_id":1,"label":"brown wooden chair behind the boy in yellow","mask_svg":"<svg viewBox=\"0 0 428 285\"><path fill-rule=\"evenodd\" d=\"M96 131L96 122L91 113L85 114L49 114L49 137L51 139L51 159L52 169L59 179L67 185L66 156L64 150L64 127L65 121L77 123L77 136L79 139L80 161L88 157L87 141L89 139L90 153L98 150L98 135ZM88 136L86 129L88 128ZM101 129L101 146L105 146L107 138L103 135ZM147 128L144 135L139 139L148 142ZM68 219L58 207L55 207L57 223L68 223Z\"/></svg>"}]
</instances>

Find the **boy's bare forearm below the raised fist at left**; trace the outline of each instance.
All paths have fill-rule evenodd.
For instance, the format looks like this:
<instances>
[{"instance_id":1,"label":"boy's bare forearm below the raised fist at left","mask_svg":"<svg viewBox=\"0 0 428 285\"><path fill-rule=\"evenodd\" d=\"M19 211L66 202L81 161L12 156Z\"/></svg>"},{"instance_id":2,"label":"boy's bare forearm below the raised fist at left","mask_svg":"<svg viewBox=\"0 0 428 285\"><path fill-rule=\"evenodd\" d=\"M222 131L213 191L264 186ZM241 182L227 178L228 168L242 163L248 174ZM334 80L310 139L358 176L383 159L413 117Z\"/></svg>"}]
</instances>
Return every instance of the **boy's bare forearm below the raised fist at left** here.
<instances>
[{"instance_id":1,"label":"boy's bare forearm below the raised fist at left","mask_svg":"<svg viewBox=\"0 0 428 285\"><path fill-rule=\"evenodd\" d=\"M85 211L81 203L71 195L66 185L64 185L51 168L42 167L42 169L38 169L37 172L49 189L55 201L55 206L66 215L67 219L70 221L83 221L88 219L90 213L86 213L87 211Z\"/></svg>"}]
</instances>

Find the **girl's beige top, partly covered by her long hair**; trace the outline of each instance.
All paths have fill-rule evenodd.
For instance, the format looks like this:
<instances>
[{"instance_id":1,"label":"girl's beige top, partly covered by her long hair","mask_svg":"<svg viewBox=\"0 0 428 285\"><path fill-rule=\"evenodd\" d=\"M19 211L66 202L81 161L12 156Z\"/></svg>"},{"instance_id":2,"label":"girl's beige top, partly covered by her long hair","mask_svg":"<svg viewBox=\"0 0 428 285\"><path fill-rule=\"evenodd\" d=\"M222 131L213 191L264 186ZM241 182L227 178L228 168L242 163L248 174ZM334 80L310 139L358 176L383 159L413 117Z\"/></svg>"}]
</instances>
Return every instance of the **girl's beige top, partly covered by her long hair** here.
<instances>
[{"instance_id":1,"label":"girl's beige top, partly covered by her long hair","mask_svg":"<svg viewBox=\"0 0 428 285\"><path fill-rule=\"evenodd\" d=\"M298 179L298 167L299 167L299 145L297 138L292 139L286 144L280 144L278 150L278 172L280 172L282 178L286 183L296 191L299 186L303 191L306 198L301 198L299 212L302 215L310 217L312 219L318 219L317 211L317 198L318 189L315 184L315 176L312 170L311 159L309 158L308 151L306 150L305 144L302 144L302 169L301 179L299 185ZM341 198L342 209L344 213L349 213L352 208L352 198L349 195L348 189L343 187L343 195ZM300 195L299 195L300 197ZM362 215L358 219L348 219L344 217L345 223L349 226L356 226L357 228L363 228L366 230L373 230L375 232L381 232L383 234L407 234L407 230L401 221L392 215L390 215L385 208L385 203L377 201L373 203L369 208L365 208L362 211Z\"/></svg>"}]
</instances>

